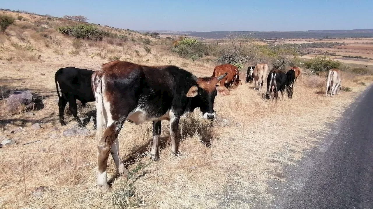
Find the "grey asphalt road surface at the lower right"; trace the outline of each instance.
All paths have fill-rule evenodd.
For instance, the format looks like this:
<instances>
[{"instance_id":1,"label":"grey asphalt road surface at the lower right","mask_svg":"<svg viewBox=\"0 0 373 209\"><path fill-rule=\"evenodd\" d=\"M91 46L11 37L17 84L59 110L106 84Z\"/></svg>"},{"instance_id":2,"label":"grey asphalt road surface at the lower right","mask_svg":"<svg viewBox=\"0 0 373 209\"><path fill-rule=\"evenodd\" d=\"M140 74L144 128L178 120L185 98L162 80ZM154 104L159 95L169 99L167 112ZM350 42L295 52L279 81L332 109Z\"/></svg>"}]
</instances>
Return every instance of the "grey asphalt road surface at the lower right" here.
<instances>
[{"instance_id":1,"label":"grey asphalt road surface at the lower right","mask_svg":"<svg viewBox=\"0 0 373 209\"><path fill-rule=\"evenodd\" d=\"M373 88L331 126L285 183L271 183L276 198L261 208L373 209Z\"/></svg>"}]
</instances>

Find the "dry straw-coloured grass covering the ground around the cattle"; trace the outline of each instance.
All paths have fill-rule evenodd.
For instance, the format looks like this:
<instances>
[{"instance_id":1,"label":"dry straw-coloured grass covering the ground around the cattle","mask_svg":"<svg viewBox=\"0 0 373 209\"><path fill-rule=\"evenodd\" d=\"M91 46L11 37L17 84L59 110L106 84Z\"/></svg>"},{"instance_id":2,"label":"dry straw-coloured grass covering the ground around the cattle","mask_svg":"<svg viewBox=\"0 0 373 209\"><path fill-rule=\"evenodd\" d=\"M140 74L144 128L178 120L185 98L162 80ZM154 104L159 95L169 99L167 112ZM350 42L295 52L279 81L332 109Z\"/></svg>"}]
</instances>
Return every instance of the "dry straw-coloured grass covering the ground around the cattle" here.
<instances>
[{"instance_id":1,"label":"dry straw-coloured grass covering the ground around the cattle","mask_svg":"<svg viewBox=\"0 0 373 209\"><path fill-rule=\"evenodd\" d=\"M131 34L130 40L140 40L141 35ZM41 37L52 43L50 47L43 42L38 45L32 42L35 48L40 48L40 59L19 60L21 63L4 60L0 64L3 97L10 90L30 89L44 98L45 105L40 111L19 115L0 109L1 135L18 143L0 150L0 208L253 208L257 201L271 199L267 181L279 176L283 166L294 164L305 150L313 147L319 140L314 138L315 133L327 131L325 124L338 119L339 113L366 88L359 83L372 83L372 76L343 74L342 86L349 87L351 92L330 98L320 93L325 78L304 76L295 84L293 99L277 102L261 99L251 84L244 84L232 90L230 96L216 98L217 118L212 128L197 110L182 118L178 157L171 156L168 125L164 121L157 162L150 161L148 156L151 123L137 126L126 122L119 141L129 179L119 177L113 182L112 192L100 194L95 186L94 137L62 136L63 130L77 123L60 126L58 122L53 81L56 70L67 66L98 70L107 59L120 56L139 64L171 63L197 76L210 76L214 63L210 58L196 62L184 60L157 45L152 46L152 54L140 54L145 46L140 42L117 46L82 41L76 45L73 39L54 31L48 31L47 35ZM29 37L34 39L34 36L30 33ZM23 50L26 44L15 35L10 39L0 36L2 39L1 57L16 53L32 55ZM15 48L12 43L22 48ZM69 55L69 51L78 49L79 54ZM94 110L94 103L88 105L79 109L81 117ZM332 115L334 112L337 114ZM72 116L65 119L71 120ZM42 123L43 129L32 129L35 122ZM15 131L19 127L23 131ZM88 123L88 128L92 129L93 125ZM35 140L40 142L22 145ZM115 171L111 157L108 166L111 176ZM35 197L31 192L38 187L44 187L45 191L43 196Z\"/></svg>"}]
</instances>

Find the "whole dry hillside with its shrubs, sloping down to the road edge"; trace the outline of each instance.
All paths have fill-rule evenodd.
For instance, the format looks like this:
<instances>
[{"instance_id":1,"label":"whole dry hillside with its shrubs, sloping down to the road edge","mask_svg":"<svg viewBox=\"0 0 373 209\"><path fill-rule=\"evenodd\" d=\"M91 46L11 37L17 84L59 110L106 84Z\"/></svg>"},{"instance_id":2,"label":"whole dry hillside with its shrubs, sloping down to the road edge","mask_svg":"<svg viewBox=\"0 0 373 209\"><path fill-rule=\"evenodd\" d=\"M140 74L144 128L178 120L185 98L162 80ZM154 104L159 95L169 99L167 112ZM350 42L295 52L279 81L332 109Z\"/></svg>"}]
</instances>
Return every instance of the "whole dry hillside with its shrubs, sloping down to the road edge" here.
<instances>
[{"instance_id":1,"label":"whole dry hillside with its shrubs, sloping down to the road edge","mask_svg":"<svg viewBox=\"0 0 373 209\"><path fill-rule=\"evenodd\" d=\"M245 70L257 58L286 70L285 64L300 64L294 51L276 51L268 44L242 39L207 44L184 37L161 38L30 13L0 11L0 15L15 19L0 32L0 143L12 142L0 147L0 208L4 209L256 208L272 198L268 181L285 181L283 167L296 164L316 146L318 137L328 131L327 124L338 119L373 81L365 68L343 68L344 90L325 97L326 72L316 73L302 65L304 74L294 85L292 99L285 94L277 101L265 100L265 89L258 92L244 82ZM244 50L234 51L237 43ZM171 154L167 121L162 122L156 162L149 154L152 123L125 122L118 138L128 178L115 175L109 157L112 191L100 193L90 122L95 103L81 107L78 102L78 115L88 122L88 136L63 135L77 122L66 107L68 124L59 123L54 81L59 68L98 70L103 63L122 60L176 65L204 77L212 75L219 59L242 59L244 53L254 52L257 57L239 63L243 85L231 87L229 96L214 100L217 116L213 121L202 119L197 109L181 119L178 156ZM7 98L15 90L30 90L44 107L7 111Z\"/></svg>"}]
</instances>

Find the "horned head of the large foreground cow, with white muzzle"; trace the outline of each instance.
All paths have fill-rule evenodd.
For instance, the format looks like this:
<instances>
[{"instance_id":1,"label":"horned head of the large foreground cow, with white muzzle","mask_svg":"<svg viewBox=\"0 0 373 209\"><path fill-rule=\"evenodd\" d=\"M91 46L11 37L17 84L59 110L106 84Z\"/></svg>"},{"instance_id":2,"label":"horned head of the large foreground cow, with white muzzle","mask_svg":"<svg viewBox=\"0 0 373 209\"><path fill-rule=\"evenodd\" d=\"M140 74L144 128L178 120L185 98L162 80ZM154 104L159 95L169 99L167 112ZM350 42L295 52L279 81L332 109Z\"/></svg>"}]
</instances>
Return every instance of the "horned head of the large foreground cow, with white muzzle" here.
<instances>
[{"instance_id":1,"label":"horned head of the large foreground cow, with white muzzle","mask_svg":"<svg viewBox=\"0 0 373 209\"><path fill-rule=\"evenodd\" d=\"M222 80L228 73L219 77L204 77L196 78L198 86L192 86L187 97L194 97L202 111L204 119L213 119L215 117L214 100L217 94L222 96L229 95L229 90L225 86L217 86L217 83Z\"/></svg>"}]
</instances>

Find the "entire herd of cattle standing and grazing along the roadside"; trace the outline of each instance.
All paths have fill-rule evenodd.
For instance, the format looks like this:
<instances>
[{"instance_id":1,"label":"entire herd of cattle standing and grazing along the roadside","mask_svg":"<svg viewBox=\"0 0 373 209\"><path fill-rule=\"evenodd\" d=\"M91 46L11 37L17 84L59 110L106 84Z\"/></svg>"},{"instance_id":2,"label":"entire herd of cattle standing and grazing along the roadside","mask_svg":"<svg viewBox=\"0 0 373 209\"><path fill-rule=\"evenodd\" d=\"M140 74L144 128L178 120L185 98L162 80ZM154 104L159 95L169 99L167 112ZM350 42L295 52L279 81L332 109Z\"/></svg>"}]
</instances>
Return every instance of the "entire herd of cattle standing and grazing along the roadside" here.
<instances>
[{"instance_id":1,"label":"entire herd of cattle standing and grazing along the roadside","mask_svg":"<svg viewBox=\"0 0 373 209\"><path fill-rule=\"evenodd\" d=\"M269 73L268 71L269 67L265 63L248 67L246 83L252 81L254 89L260 91L267 79L267 99L272 98L272 92L273 98L277 99L278 91L281 91L282 95L287 93L288 97L292 98L294 82L302 75L301 68L292 67L286 73L278 69L272 69ZM63 112L68 102L70 112L81 127L83 123L78 117L76 99L81 101L83 106L87 102L96 103L97 185L102 191L109 189L106 171L109 153L115 161L117 173L124 176L128 173L120 162L117 137L125 120L136 124L153 122L151 159L156 161L161 120L169 120L171 149L176 155L181 116L199 108L204 119L213 119L216 114L213 106L217 94L229 95L229 86L242 85L238 68L230 64L216 66L211 77L196 77L172 65L145 66L115 60L103 64L98 71L75 67L60 68L54 78L59 97L61 125L66 125ZM330 70L325 95L338 93L340 85L341 72L337 69Z\"/></svg>"}]
</instances>

